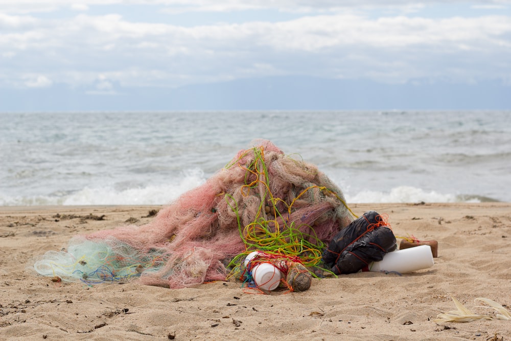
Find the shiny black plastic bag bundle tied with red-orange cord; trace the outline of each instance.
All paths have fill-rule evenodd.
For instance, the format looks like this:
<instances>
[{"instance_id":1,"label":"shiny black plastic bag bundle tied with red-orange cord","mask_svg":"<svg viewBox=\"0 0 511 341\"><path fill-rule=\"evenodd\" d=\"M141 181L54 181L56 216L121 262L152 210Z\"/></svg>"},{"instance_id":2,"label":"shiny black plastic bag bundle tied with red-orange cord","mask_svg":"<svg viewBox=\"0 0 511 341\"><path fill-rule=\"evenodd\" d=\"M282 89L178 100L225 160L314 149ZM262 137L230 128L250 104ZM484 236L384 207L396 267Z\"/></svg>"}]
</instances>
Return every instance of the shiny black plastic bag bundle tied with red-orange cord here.
<instances>
[{"instance_id":1,"label":"shiny black plastic bag bundle tied with red-orange cord","mask_svg":"<svg viewBox=\"0 0 511 341\"><path fill-rule=\"evenodd\" d=\"M396 237L375 211L364 213L330 241L323 262L336 275L353 274L396 249Z\"/></svg>"}]
</instances>

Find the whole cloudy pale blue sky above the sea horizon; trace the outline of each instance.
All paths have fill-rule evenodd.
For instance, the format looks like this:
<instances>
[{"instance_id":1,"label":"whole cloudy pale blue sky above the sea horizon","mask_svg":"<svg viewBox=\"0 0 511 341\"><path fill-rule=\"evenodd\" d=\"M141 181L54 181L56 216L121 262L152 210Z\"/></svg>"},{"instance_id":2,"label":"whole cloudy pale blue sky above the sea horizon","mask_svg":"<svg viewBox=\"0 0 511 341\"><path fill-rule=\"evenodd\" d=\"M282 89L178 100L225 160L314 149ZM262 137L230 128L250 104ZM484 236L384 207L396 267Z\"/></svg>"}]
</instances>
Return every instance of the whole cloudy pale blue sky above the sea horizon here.
<instances>
[{"instance_id":1,"label":"whole cloudy pale blue sky above the sea horizon","mask_svg":"<svg viewBox=\"0 0 511 341\"><path fill-rule=\"evenodd\" d=\"M511 109L511 0L0 0L0 112Z\"/></svg>"}]
</instances>

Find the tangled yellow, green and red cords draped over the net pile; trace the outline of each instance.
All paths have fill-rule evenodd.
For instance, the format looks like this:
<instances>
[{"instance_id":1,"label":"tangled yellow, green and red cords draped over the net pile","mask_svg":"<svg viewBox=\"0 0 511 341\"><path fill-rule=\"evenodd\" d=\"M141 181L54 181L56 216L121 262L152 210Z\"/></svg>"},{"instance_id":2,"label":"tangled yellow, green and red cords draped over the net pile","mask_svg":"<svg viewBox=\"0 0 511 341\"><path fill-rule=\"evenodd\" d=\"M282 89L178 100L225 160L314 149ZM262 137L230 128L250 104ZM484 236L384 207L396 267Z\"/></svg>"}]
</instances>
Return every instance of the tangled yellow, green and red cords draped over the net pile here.
<instances>
[{"instance_id":1,"label":"tangled yellow, green and red cords draped over the net pile","mask_svg":"<svg viewBox=\"0 0 511 341\"><path fill-rule=\"evenodd\" d=\"M290 221L295 203L311 190L317 189L325 196L335 197L354 217L358 218L335 191L324 186L313 185L305 188L289 204L282 198L274 197L270 190L268 169L264 161L264 147L255 147L253 151L255 155L253 162L248 166L238 162L238 167L245 170L245 185L242 186L243 196L248 196L251 191L256 191L258 185L264 189L263 198L255 219L243 226L238 203L233 196L224 194L228 206L236 213L240 237L245 244L245 252L236 256L229 263L229 267L233 268L233 270L227 278L236 276L244 283L252 283L252 286L251 269L262 262L273 264L285 276L288 273L287 264L289 262L300 263L305 267L318 267L318 264L321 262L322 250L326 245L317 237L311 226L307 225L311 233L304 233L300 231L300 227L303 227L301 224L297 225L296 221ZM231 163L227 167L234 166L234 164ZM264 199L266 199L267 206L264 204ZM281 203L285 210L279 210L277 203ZM265 216L267 213L271 213L274 219L268 219ZM247 268L240 266L239 264L243 263L247 254L252 251L260 251L261 253L249 262ZM320 270L330 272L328 269L320 268ZM297 272L298 274L299 272ZM317 277L314 272L312 272L312 275ZM283 281L286 282L285 280ZM292 290L292 287L287 282L285 284Z\"/></svg>"}]
</instances>

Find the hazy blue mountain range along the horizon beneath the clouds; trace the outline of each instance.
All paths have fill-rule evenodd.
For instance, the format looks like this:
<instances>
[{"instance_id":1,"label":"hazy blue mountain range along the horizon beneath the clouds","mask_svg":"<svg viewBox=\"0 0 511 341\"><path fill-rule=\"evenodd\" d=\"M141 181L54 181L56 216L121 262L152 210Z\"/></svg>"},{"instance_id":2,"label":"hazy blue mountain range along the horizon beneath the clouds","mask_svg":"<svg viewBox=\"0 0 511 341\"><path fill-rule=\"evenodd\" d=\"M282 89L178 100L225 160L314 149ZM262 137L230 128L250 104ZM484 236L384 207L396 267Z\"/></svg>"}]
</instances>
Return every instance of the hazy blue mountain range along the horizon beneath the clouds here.
<instances>
[{"instance_id":1,"label":"hazy blue mountain range along the horizon beneath the clouds","mask_svg":"<svg viewBox=\"0 0 511 341\"><path fill-rule=\"evenodd\" d=\"M511 109L511 85L383 84L303 76L240 79L179 88L121 87L98 93L62 84L0 88L0 112L89 110L470 110Z\"/></svg>"}]
</instances>

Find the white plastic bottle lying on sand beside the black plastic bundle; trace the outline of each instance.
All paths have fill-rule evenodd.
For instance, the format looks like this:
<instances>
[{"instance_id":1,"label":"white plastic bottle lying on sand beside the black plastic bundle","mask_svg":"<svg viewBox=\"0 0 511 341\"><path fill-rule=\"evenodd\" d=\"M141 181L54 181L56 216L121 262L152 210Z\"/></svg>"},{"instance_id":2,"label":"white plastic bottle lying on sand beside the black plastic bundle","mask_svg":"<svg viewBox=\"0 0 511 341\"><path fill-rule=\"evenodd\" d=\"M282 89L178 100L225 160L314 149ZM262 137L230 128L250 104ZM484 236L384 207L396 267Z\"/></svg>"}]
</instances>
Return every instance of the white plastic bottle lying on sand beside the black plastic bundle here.
<instances>
[{"instance_id":1,"label":"white plastic bottle lying on sand beside the black plastic bundle","mask_svg":"<svg viewBox=\"0 0 511 341\"><path fill-rule=\"evenodd\" d=\"M369 264L369 271L396 271L400 274L406 274L407 272L427 269L434 264L431 246L420 245L389 252L380 262Z\"/></svg>"}]
</instances>

